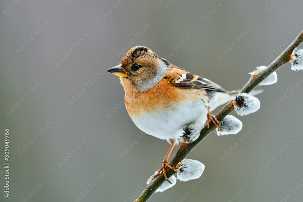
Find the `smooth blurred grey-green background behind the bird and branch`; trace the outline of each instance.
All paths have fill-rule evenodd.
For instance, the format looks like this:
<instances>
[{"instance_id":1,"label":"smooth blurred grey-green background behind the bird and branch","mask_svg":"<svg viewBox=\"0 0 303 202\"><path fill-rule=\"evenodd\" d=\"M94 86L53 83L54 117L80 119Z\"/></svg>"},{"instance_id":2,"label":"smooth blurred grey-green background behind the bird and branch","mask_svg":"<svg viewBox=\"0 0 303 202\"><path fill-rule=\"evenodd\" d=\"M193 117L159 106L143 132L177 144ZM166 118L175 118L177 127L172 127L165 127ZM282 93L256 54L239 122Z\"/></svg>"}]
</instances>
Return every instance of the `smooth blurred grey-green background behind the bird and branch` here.
<instances>
[{"instance_id":1,"label":"smooth blurred grey-green background behind the bird and branch","mask_svg":"<svg viewBox=\"0 0 303 202\"><path fill-rule=\"evenodd\" d=\"M119 104L124 90L106 70L119 64L124 47L148 46L235 90L302 31L302 6L295 0L1 1L0 201L136 199L169 144L143 136ZM203 179L177 182L149 201L301 200L303 85L296 83L303 71L291 71L288 63L277 73L278 83L261 87L260 110L237 116L242 131L211 133L189 154L205 164Z\"/></svg>"}]
</instances>

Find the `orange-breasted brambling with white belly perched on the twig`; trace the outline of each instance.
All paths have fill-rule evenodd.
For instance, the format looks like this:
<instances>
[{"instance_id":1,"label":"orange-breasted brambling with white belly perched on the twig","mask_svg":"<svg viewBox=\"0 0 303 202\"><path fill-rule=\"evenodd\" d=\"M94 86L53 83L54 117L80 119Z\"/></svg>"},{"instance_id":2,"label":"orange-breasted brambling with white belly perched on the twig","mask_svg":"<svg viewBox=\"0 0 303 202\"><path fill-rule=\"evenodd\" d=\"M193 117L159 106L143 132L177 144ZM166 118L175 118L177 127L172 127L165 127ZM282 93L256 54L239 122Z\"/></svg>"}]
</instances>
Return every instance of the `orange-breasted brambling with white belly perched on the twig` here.
<instances>
[{"instance_id":1,"label":"orange-breasted brambling with white belly perched on the twig","mask_svg":"<svg viewBox=\"0 0 303 202\"><path fill-rule=\"evenodd\" d=\"M168 157L180 137L186 139L183 143L195 141L203 125L209 127L209 121L221 131L220 122L210 112L238 92L225 91L206 78L176 67L145 46L131 48L118 66L107 71L120 77L125 107L135 125L171 144L158 171L158 175L163 171L168 182L165 167L176 170L169 165Z\"/></svg>"}]
</instances>

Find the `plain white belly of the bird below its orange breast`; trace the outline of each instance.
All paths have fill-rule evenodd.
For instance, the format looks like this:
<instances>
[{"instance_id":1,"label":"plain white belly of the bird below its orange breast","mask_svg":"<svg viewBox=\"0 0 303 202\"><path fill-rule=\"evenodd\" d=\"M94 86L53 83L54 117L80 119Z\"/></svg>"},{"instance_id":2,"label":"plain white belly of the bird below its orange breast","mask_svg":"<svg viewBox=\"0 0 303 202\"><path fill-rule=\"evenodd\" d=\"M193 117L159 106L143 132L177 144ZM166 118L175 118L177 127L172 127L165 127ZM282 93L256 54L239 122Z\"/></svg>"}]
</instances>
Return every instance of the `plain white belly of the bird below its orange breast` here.
<instances>
[{"instance_id":1,"label":"plain white belly of the bird below its orange breast","mask_svg":"<svg viewBox=\"0 0 303 202\"><path fill-rule=\"evenodd\" d=\"M202 101L184 103L174 107L174 110L155 111L132 117L136 126L143 132L162 140L177 139L182 136L182 127L186 124L200 121L205 124L207 107Z\"/></svg>"}]
</instances>

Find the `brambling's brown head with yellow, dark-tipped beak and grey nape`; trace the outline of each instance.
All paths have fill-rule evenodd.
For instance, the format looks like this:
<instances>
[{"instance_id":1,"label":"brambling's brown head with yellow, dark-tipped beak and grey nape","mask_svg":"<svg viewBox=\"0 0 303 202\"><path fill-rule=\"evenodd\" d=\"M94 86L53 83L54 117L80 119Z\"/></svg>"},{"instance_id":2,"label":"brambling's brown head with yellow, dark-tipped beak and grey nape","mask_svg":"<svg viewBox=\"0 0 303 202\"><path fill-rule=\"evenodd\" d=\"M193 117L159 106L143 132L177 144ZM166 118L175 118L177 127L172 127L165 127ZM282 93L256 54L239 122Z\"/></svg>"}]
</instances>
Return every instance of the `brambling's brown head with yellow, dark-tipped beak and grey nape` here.
<instances>
[{"instance_id":1,"label":"brambling's brown head with yellow, dark-tipped beak and grey nape","mask_svg":"<svg viewBox=\"0 0 303 202\"><path fill-rule=\"evenodd\" d=\"M164 77L168 65L168 61L151 49L135 46L127 51L118 66L107 71L118 75L123 86L131 84L140 91L147 91Z\"/></svg>"}]
</instances>

